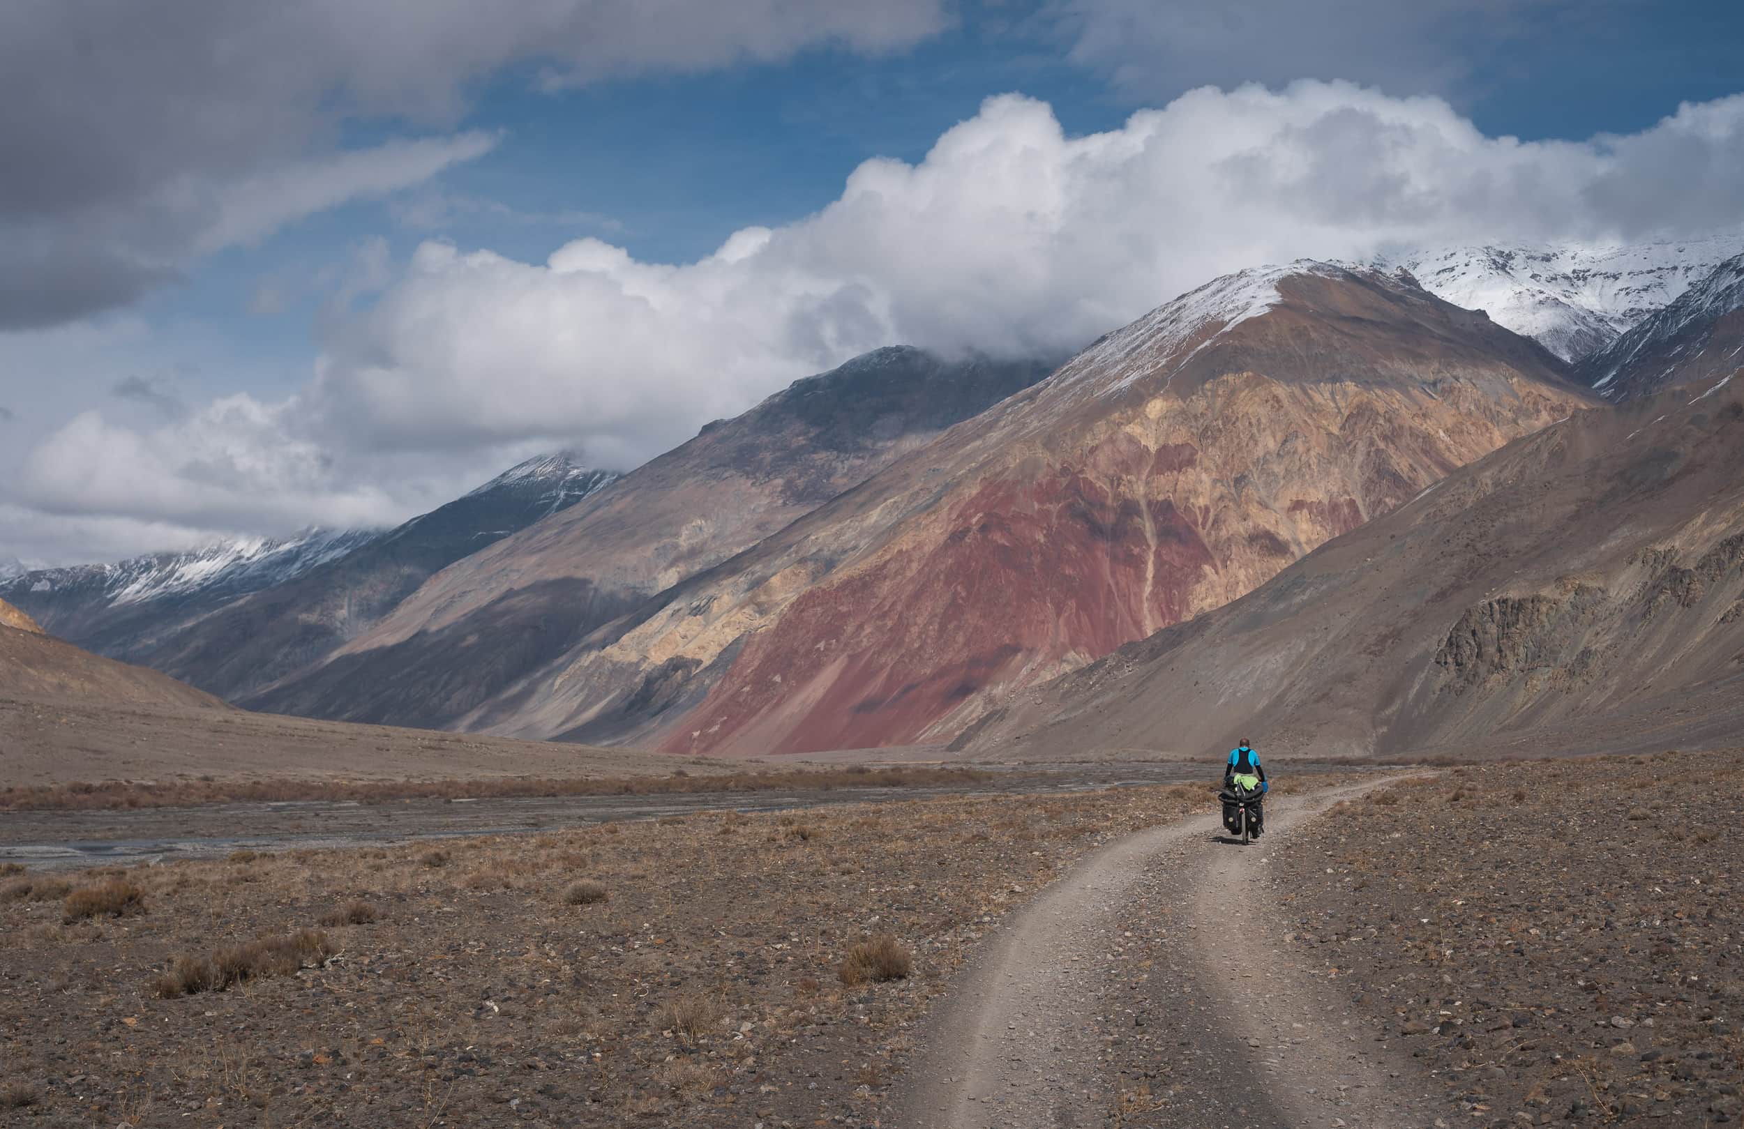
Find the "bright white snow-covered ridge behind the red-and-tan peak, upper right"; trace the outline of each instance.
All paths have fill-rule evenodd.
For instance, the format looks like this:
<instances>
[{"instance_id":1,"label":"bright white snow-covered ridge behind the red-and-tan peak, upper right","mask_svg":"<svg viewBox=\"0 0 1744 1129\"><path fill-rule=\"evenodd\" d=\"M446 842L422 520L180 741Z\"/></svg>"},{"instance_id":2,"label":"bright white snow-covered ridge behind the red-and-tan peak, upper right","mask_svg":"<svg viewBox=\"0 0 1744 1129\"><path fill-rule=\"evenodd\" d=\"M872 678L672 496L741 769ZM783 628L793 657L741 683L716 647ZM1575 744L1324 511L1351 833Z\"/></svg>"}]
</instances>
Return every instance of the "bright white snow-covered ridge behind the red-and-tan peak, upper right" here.
<instances>
[{"instance_id":1,"label":"bright white snow-covered ridge behind the red-and-tan peak, upper right","mask_svg":"<svg viewBox=\"0 0 1744 1129\"><path fill-rule=\"evenodd\" d=\"M1432 294L1578 361L1739 253L1744 232L1629 246L1441 247L1374 265L1404 267Z\"/></svg>"}]
</instances>

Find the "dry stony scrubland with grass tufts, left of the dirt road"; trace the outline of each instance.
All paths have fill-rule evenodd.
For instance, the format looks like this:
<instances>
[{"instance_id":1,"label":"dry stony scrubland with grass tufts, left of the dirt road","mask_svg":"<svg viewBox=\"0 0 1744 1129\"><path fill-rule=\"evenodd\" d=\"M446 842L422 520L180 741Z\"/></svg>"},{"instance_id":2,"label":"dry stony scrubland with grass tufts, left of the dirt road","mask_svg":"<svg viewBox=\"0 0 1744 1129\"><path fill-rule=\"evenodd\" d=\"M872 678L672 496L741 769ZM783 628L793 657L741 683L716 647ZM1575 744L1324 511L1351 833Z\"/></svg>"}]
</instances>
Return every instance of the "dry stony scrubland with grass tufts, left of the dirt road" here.
<instances>
[{"instance_id":1,"label":"dry stony scrubland with grass tufts, left of the dirt road","mask_svg":"<svg viewBox=\"0 0 1744 1129\"><path fill-rule=\"evenodd\" d=\"M968 948L1205 788L0 876L0 1122L865 1126Z\"/></svg>"}]
</instances>

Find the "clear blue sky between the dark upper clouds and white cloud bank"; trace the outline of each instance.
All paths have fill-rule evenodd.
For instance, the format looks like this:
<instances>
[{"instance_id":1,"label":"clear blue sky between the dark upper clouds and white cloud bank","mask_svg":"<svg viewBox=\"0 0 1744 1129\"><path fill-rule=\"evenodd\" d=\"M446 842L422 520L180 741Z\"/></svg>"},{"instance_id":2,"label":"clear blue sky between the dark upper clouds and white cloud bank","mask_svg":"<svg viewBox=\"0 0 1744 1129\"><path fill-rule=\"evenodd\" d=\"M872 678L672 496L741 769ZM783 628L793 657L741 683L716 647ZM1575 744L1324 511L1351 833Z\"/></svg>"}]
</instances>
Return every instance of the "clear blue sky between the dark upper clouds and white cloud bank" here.
<instances>
[{"instance_id":1,"label":"clear blue sky between the dark upper clouds and white cloud bank","mask_svg":"<svg viewBox=\"0 0 1744 1129\"><path fill-rule=\"evenodd\" d=\"M1529 141L1634 132L1683 101L1744 89L1741 5L1543 7L1516 35L1449 44L1468 52L1461 78L1413 84L1388 75L1383 89L1442 94L1484 132ZM1102 68L1069 59L1067 28L1043 19L1043 9L1015 9L959 12L954 26L910 51L874 57L820 47L780 64L642 75L556 94L537 89L532 68L511 68L469 99L466 122L502 132L490 155L398 206L337 209L262 247L216 256L167 291L160 308L241 317L248 301L239 296L270 284L276 272L312 275L368 237L389 239L398 254L439 235L539 260L576 235L598 235L638 260L691 261L741 226L823 207L867 157L919 160L989 94L1046 101L1069 132L1085 134L1116 129L1134 110L1188 89L1167 75L1146 91L1123 89ZM1245 80L1233 54L1223 85ZM1291 77L1364 70L1322 63ZM391 129L363 124L352 134L364 143ZM439 223L422 223L417 204L439 197L457 206L441 211ZM249 331L307 352L316 298L303 294L303 319Z\"/></svg>"}]
</instances>

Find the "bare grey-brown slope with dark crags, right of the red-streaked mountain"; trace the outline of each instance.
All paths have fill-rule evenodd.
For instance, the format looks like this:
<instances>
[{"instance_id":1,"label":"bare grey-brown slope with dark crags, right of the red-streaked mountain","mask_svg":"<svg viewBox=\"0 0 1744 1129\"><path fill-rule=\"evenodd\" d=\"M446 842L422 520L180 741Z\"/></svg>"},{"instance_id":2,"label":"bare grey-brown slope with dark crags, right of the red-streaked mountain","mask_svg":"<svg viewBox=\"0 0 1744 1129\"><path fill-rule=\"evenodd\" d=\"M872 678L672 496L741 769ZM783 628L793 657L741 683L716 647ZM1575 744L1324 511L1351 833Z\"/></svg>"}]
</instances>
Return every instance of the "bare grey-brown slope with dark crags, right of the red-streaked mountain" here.
<instances>
[{"instance_id":1,"label":"bare grey-brown slope with dark crags, right of the red-streaked mountain","mask_svg":"<svg viewBox=\"0 0 1744 1129\"><path fill-rule=\"evenodd\" d=\"M968 747L1732 747L1744 380L1580 411L1247 598L1013 695Z\"/></svg>"}]
</instances>

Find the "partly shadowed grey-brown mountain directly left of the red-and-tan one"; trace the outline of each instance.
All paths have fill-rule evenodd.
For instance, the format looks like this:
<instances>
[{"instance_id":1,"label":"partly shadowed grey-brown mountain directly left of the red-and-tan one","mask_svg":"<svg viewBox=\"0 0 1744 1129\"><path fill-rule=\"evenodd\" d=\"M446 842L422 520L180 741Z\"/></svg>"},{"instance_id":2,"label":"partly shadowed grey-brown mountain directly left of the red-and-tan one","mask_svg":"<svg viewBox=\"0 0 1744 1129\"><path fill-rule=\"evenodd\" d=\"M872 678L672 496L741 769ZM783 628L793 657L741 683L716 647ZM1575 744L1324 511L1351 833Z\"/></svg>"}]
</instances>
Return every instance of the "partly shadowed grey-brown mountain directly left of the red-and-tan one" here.
<instances>
[{"instance_id":1,"label":"partly shadowed grey-brown mountain directly left of the red-and-tan one","mask_svg":"<svg viewBox=\"0 0 1744 1129\"><path fill-rule=\"evenodd\" d=\"M582 505L457 561L326 666L242 697L309 716L466 727L589 632L776 533L1050 364L881 348L799 380Z\"/></svg>"}]
</instances>

